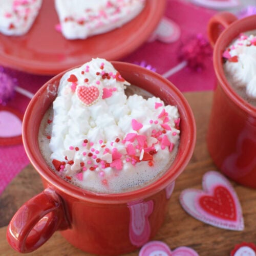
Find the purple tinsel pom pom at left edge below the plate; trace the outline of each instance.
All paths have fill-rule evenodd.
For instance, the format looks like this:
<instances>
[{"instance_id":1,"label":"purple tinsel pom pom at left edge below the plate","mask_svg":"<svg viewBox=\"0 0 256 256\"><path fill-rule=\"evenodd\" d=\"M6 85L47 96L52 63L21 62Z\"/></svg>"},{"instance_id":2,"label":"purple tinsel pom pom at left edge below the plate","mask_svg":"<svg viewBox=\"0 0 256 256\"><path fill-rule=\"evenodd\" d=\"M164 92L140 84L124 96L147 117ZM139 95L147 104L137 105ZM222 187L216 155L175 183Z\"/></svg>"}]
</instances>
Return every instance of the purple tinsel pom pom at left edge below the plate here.
<instances>
[{"instance_id":1,"label":"purple tinsel pom pom at left edge below the plate","mask_svg":"<svg viewBox=\"0 0 256 256\"><path fill-rule=\"evenodd\" d=\"M17 80L7 75L0 67L0 104L6 105L8 100L12 99L15 86L17 86Z\"/></svg>"}]
</instances>

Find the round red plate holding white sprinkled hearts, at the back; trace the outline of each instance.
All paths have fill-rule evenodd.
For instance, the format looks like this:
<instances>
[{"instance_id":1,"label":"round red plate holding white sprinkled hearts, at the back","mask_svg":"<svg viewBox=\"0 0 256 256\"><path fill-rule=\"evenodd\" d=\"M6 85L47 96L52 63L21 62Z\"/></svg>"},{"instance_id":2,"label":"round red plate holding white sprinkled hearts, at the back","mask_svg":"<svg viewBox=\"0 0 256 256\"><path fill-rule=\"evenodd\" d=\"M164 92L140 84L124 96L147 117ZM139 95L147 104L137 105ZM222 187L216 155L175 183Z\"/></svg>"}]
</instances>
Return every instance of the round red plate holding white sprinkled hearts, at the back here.
<instances>
[{"instance_id":1,"label":"round red plate holding white sprinkled hearts, at the back","mask_svg":"<svg viewBox=\"0 0 256 256\"><path fill-rule=\"evenodd\" d=\"M166 0L147 0L130 23L84 40L67 40L58 24L53 0L44 0L30 31L19 37L0 34L0 64L34 74L57 74L91 58L117 60L138 48L158 25Z\"/></svg>"}]
</instances>

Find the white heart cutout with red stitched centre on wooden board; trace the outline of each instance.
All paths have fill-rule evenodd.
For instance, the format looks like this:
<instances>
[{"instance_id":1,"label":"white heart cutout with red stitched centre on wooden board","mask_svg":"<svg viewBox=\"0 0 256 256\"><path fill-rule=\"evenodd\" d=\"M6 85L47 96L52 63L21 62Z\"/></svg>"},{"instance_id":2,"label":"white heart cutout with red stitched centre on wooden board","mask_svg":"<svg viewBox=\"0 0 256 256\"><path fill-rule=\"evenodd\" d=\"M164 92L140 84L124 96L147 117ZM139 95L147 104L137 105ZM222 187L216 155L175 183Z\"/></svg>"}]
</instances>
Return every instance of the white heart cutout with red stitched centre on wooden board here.
<instances>
[{"instance_id":1,"label":"white heart cutout with red stitched centre on wooden board","mask_svg":"<svg viewBox=\"0 0 256 256\"><path fill-rule=\"evenodd\" d=\"M180 203L183 209L209 225L243 230L241 205L229 181L220 173L209 171L203 176L202 186L203 190L188 188L182 191Z\"/></svg>"}]
</instances>

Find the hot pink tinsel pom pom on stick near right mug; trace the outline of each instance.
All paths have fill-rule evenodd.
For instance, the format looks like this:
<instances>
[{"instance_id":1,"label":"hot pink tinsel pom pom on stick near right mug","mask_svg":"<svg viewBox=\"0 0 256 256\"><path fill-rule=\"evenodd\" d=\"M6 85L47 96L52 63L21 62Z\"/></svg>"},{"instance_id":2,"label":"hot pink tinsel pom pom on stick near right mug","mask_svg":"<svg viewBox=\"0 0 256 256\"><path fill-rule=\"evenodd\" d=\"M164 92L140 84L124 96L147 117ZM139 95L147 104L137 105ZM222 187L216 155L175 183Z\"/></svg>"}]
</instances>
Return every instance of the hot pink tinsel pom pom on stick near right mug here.
<instances>
[{"instance_id":1,"label":"hot pink tinsel pom pom on stick near right mug","mask_svg":"<svg viewBox=\"0 0 256 256\"><path fill-rule=\"evenodd\" d=\"M206 61L211 61L212 49L209 42L198 34L187 39L186 43L181 46L179 60L187 61L187 67L202 71L205 67Z\"/></svg>"}]
</instances>

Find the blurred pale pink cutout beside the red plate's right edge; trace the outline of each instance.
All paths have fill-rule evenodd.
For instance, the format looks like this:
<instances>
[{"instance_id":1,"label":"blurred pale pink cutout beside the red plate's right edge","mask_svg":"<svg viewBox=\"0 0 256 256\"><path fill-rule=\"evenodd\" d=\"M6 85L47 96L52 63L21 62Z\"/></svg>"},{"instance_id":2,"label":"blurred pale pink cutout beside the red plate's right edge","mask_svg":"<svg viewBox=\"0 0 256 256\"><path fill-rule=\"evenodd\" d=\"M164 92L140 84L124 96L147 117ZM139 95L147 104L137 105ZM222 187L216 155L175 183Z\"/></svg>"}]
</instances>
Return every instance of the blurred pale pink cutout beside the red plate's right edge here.
<instances>
[{"instance_id":1,"label":"blurred pale pink cutout beside the red plate's right edge","mask_svg":"<svg viewBox=\"0 0 256 256\"><path fill-rule=\"evenodd\" d=\"M180 27L173 20L163 17L148 42L159 40L161 42L175 42L180 38Z\"/></svg>"}]
</instances>

